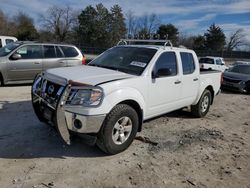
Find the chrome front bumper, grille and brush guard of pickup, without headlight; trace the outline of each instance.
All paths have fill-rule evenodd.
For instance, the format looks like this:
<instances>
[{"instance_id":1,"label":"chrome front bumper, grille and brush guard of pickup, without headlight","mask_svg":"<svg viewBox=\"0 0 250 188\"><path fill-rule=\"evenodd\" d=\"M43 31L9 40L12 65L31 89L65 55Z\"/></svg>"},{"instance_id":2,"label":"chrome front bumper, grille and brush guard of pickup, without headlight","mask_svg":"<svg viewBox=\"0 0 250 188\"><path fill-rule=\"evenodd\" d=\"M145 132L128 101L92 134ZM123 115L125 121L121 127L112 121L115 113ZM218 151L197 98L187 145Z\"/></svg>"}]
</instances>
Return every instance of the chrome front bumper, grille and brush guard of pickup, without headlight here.
<instances>
[{"instance_id":1,"label":"chrome front bumper, grille and brush guard of pickup, without headlight","mask_svg":"<svg viewBox=\"0 0 250 188\"><path fill-rule=\"evenodd\" d=\"M49 95L47 91L53 84L57 89ZM66 103L71 89L70 84L66 86L55 84L41 76L37 77L32 85L32 104L36 115L40 120L54 124L68 144L70 144L70 131L98 133L106 117L106 114L85 115L81 112L72 112L70 110L72 106L69 108Z\"/></svg>"}]
</instances>

